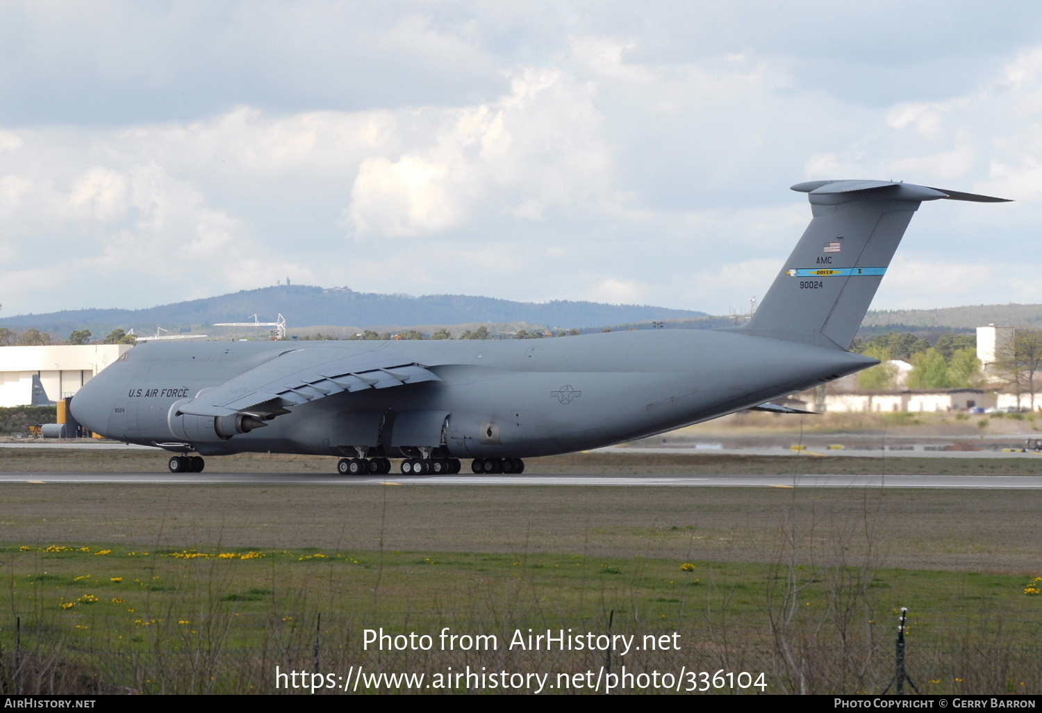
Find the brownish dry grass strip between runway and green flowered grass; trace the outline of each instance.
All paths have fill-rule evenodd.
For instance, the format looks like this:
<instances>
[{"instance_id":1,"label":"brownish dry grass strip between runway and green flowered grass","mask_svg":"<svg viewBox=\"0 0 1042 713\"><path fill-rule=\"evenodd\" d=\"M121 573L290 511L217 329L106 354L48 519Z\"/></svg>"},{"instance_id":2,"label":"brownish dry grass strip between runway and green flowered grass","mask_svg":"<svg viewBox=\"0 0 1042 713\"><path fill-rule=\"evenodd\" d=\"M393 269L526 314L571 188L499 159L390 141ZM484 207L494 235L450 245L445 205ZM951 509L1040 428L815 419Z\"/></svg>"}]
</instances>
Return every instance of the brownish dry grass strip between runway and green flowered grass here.
<instances>
[{"instance_id":1,"label":"brownish dry grass strip between runway and green flowered grass","mask_svg":"<svg viewBox=\"0 0 1042 713\"><path fill-rule=\"evenodd\" d=\"M587 552L799 561L871 539L887 566L1042 569L1038 491L776 488L33 485L0 487L0 541Z\"/></svg>"}]
</instances>

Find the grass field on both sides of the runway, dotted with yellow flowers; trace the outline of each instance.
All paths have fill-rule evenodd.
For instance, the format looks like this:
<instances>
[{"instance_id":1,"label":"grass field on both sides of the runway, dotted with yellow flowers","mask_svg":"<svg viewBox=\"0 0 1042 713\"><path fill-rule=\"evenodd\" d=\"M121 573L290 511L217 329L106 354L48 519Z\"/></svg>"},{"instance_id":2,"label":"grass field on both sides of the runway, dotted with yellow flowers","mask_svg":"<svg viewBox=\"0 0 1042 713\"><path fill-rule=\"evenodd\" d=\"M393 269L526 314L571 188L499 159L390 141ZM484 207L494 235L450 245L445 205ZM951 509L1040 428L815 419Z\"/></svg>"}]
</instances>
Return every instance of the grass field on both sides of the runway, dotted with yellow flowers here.
<instances>
[{"instance_id":1,"label":"grass field on both sides of the runway, dotted with yellow flowers","mask_svg":"<svg viewBox=\"0 0 1042 713\"><path fill-rule=\"evenodd\" d=\"M164 465L129 449L73 456L82 460L64 468L53 451L16 463L22 452L3 451L3 468ZM871 462L663 458L535 465L738 474ZM1034 464L915 461L886 463L974 474ZM327 470L329 459L226 463L306 471ZM449 666L553 674L625 665L764 672L775 693L878 692L893 674L895 610L908 607L909 671L921 689L1042 692L1042 595L1024 593L1042 575L1034 491L22 483L4 484L0 502L6 691L275 692L276 665L427 681ZM442 651L436 638L427 651L365 650L364 631L381 626L436 637L448 626L495 635L499 647ZM506 647L529 628L676 632L680 650Z\"/></svg>"}]
</instances>

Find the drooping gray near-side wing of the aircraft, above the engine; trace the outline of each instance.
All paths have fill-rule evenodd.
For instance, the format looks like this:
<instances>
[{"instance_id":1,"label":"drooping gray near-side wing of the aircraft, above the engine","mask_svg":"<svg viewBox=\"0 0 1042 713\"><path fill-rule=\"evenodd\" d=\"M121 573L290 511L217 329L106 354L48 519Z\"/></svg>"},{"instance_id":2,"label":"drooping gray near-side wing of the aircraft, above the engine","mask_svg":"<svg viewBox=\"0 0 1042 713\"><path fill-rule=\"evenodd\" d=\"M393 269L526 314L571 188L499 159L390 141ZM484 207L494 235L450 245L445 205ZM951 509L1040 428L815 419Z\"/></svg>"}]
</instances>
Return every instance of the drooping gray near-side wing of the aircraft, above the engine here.
<instances>
[{"instance_id":1,"label":"drooping gray near-side wing of the aircraft, above the engine","mask_svg":"<svg viewBox=\"0 0 1042 713\"><path fill-rule=\"evenodd\" d=\"M178 407L178 414L258 418L341 392L387 389L441 380L401 353L382 349L345 355L341 349L300 348L282 352L218 387L203 389ZM263 408L257 408L262 407Z\"/></svg>"}]
</instances>

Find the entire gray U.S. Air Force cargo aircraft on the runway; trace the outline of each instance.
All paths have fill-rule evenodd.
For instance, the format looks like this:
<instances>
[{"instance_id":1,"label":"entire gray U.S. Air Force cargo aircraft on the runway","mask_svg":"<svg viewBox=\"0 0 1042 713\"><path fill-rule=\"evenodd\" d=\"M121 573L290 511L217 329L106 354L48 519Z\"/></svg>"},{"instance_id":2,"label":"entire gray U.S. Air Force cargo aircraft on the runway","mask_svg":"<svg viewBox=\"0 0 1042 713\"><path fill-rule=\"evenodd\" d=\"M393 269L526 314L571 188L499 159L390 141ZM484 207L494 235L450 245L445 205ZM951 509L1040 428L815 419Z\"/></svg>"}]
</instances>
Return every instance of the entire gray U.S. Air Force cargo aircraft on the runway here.
<instances>
[{"instance_id":1,"label":"entire gray U.S. Air Force cargo aircraft on the runway","mask_svg":"<svg viewBox=\"0 0 1042 713\"><path fill-rule=\"evenodd\" d=\"M847 351L926 200L1002 201L877 180L797 183L813 219L747 324L566 339L141 344L84 385L73 416L179 453L340 457L344 474L519 473L737 411L878 362Z\"/></svg>"}]
</instances>

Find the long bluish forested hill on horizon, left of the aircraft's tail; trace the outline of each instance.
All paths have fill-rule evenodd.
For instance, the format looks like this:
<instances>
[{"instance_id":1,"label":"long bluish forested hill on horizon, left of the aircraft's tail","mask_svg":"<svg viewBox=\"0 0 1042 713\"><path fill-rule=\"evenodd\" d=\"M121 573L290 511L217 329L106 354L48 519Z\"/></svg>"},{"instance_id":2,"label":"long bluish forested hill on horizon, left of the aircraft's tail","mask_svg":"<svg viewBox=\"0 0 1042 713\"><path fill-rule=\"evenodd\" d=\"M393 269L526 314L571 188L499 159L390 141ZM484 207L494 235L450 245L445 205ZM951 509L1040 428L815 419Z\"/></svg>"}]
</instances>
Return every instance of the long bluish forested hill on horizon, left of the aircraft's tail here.
<instances>
[{"instance_id":1,"label":"long bluish forested hill on horizon, left of the aircraft's tail","mask_svg":"<svg viewBox=\"0 0 1042 713\"><path fill-rule=\"evenodd\" d=\"M602 304L554 300L544 303L513 302L465 295L381 295L348 288L324 289L280 286L243 290L146 310L74 310L42 315L17 315L0 319L13 330L35 327L65 336L74 329L95 335L115 328L135 328L148 334L155 326L175 329L206 326L217 322L241 322L251 315L260 321L286 317L291 327L339 325L377 327L416 324L463 324L468 322L527 322L548 328L581 328L624 322L703 317L703 312L670 310L638 304Z\"/></svg>"}]
</instances>

